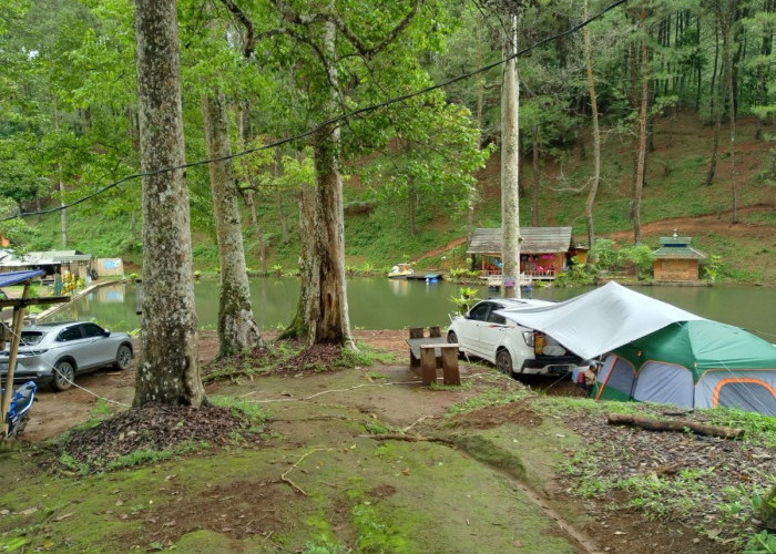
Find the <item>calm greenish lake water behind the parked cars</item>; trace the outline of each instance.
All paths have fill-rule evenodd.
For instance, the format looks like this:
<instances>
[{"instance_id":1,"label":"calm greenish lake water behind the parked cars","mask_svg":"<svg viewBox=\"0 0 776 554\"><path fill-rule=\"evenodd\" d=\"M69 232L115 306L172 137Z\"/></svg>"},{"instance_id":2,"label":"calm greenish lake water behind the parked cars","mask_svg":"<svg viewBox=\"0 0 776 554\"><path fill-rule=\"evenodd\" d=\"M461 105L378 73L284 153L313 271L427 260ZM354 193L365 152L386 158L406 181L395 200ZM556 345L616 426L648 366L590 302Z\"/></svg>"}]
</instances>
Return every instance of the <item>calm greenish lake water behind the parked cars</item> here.
<instances>
[{"instance_id":1,"label":"calm greenish lake water behind the parked cars","mask_svg":"<svg viewBox=\"0 0 776 554\"><path fill-rule=\"evenodd\" d=\"M392 280L363 277L348 280L350 325L363 329L404 329L449 324L450 301L458 286L447 281ZM525 297L565 300L589 288L534 288ZM776 342L776 287L635 287L646 296L673 304L708 319L743 327ZM194 286L200 326L215 328L218 316L218 281L202 279ZM296 310L299 283L294 278L251 280L254 315L262 329L285 326ZM497 296L481 287L480 298ZM94 290L68 306L51 320L94 319L109 329L140 327L135 315L135 285L116 284Z\"/></svg>"}]
</instances>

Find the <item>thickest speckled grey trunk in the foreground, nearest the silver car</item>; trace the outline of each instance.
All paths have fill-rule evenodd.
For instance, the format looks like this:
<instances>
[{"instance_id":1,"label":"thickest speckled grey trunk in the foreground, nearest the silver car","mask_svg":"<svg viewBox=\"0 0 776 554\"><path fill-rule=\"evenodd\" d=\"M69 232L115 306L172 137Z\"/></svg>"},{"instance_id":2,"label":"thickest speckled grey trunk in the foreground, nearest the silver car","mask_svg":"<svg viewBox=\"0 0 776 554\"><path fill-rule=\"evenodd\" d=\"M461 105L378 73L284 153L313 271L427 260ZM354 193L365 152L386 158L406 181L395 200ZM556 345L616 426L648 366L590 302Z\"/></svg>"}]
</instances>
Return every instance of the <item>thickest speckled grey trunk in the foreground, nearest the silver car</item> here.
<instances>
[{"instance_id":1,"label":"thickest speckled grey trunk in the foreground, nearest the silver car","mask_svg":"<svg viewBox=\"0 0 776 554\"><path fill-rule=\"evenodd\" d=\"M205 400L194 311L177 13L174 0L136 0L143 177L143 317L134 406Z\"/></svg>"}]
</instances>

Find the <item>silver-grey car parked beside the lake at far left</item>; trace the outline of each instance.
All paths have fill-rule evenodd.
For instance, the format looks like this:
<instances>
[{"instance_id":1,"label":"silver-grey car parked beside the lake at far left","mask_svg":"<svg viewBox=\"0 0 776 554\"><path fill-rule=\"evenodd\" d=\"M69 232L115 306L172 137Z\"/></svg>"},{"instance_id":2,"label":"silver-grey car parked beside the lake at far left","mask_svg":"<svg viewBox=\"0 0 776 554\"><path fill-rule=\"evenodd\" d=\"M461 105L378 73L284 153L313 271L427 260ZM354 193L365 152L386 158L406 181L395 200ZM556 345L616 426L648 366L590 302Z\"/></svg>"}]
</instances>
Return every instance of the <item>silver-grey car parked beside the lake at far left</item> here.
<instances>
[{"instance_id":1,"label":"silver-grey car parked beside the lake at far left","mask_svg":"<svg viewBox=\"0 0 776 554\"><path fill-rule=\"evenodd\" d=\"M8 373L9 348L0 352L0 377ZM24 327L13 373L14 382L51 383L57 391L72 387L76 375L113 366L126 369L133 357L132 339L89 321Z\"/></svg>"}]
</instances>

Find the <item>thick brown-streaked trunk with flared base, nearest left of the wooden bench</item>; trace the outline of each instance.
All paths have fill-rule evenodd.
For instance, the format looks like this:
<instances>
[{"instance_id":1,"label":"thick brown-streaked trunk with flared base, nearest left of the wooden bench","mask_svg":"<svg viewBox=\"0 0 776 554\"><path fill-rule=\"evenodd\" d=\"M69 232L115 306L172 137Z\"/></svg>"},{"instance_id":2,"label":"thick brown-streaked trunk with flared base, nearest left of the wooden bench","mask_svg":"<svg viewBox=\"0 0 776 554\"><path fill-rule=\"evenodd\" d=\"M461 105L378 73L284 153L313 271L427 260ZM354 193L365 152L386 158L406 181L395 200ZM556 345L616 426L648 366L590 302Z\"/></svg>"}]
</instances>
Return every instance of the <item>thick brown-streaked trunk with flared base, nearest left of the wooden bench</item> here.
<instances>
[{"instance_id":1,"label":"thick brown-streaked trunk with flared base, nearest left of the wooden bench","mask_svg":"<svg viewBox=\"0 0 776 554\"><path fill-rule=\"evenodd\" d=\"M327 22L324 50L331 60L335 54L334 23ZM329 83L333 83L327 105L320 111L334 113L337 106L336 69L328 64ZM315 187L304 199L313 204L305 209L310 217L302 227L306 230L302 248L303 284L299 311L303 321L295 319L295 330L306 334L309 343L338 343L355 349L350 335L348 302L345 284L345 215L343 213L343 179L339 173L339 127L327 125L313 135ZM305 305L302 305L302 301Z\"/></svg>"}]
</instances>

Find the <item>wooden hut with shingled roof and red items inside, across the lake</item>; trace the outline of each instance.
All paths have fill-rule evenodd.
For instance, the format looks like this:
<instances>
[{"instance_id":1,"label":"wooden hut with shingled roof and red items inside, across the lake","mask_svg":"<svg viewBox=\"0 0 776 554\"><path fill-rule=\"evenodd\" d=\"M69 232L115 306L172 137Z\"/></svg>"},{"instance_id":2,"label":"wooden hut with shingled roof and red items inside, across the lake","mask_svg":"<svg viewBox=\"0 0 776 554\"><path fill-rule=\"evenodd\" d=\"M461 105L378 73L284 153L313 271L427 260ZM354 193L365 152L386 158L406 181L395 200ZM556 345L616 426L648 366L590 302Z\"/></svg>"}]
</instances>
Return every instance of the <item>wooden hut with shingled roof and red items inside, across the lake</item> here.
<instances>
[{"instance_id":1,"label":"wooden hut with shingled roof and red items inside, across the lake","mask_svg":"<svg viewBox=\"0 0 776 554\"><path fill-rule=\"evenodd\" d=\"M552 280L568 268L571 227L522 227L520 273L538 280ZM474 230L467 254L481 277L501 275L501 228Z\"/></svg>"}]
</instances>

